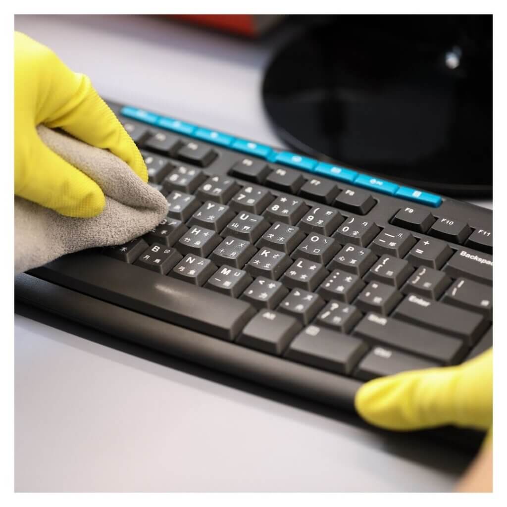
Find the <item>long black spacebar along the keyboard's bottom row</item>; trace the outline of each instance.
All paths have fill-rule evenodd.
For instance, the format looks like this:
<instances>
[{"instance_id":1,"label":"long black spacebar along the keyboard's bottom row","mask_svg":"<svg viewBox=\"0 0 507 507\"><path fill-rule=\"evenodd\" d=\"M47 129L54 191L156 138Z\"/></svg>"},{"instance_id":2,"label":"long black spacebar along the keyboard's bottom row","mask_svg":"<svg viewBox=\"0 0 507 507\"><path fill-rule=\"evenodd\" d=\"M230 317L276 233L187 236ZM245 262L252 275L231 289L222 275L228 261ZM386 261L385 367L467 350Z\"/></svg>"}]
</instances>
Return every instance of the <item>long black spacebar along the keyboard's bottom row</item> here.
<instances>
[{"instance_id":1,"label":"long black spacebar along the keyboard's bottom row","mask_svg":"<svg viewBox=\"0 0 507 507\"><path fill-rule=\"evenodd\" d=\"M29 274L229 341L236 338L256 313L245 301L91 251L61 257Z\"/></svg>"}]
</instances>

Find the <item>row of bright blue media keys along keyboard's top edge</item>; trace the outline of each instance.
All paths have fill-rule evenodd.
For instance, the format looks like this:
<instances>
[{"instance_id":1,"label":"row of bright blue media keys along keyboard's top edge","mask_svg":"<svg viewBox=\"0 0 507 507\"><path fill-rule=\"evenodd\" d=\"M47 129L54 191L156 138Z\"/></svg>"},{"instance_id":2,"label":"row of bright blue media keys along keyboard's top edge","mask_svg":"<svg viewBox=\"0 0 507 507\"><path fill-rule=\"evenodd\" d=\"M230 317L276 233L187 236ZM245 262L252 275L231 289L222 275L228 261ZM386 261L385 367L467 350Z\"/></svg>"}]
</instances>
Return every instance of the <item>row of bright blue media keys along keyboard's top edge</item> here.
<instances>
[{"instance_id":1,"label":"row of bright blue media keys along keyboard's top edge","mask_svg":"<svg viewBox=\"0 0 507 507\"><path fill-rule=\"evenodd\" d=\"M438 207L442 204L442 198L435 194L430 194L428 192L423 192L409 187L399 187L395 183L388 182L385 179L368 176L367 174L359 174L351 169L319 162L318 160L303 157L296 153L276 152L264 144L259 144L247 139L235 138L223 132L209 130L192 125L191 123L159 116L155 113L150 113L149 111L144 111L136 107L125 106L122 108L121 114L127 118L132 118L133 120L149 123L150 125L172 130L180 134L195 137L196 139L202 139L207 142L219 144L220 146L227 147L231 150L263 158L268 162L276 162L277 164L295 167L303 171L322 174L323 176L338 179L342 182L356 185L357 187L363 187L375 192L400 197L409 201L425 204L426 206Z\"/></svg>"}]
</instances>

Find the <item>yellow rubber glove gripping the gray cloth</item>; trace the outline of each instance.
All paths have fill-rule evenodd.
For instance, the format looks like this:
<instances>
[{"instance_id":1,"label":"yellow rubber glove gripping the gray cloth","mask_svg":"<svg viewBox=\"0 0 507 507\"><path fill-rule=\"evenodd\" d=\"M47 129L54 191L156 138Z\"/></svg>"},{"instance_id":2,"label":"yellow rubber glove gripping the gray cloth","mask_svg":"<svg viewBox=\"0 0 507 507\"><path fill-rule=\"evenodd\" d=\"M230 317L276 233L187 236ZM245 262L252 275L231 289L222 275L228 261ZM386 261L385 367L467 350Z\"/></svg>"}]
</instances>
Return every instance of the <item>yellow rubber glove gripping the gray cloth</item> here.
<instances>
[{"instance_id":1,"label":"yellow rubber glove gripping the gray cloth","mask_svg":"<svg viewBox=\"0 0 507 507\"><path fill-rule=\"evenodd\" d=\"M20 32L14 35L14 113L16 195L82 218L98 215L105 205L99 186L41 141L35 130L41 123L110 150L148 181L139 150L90 79Z\"/></svg>"}]
</instances>

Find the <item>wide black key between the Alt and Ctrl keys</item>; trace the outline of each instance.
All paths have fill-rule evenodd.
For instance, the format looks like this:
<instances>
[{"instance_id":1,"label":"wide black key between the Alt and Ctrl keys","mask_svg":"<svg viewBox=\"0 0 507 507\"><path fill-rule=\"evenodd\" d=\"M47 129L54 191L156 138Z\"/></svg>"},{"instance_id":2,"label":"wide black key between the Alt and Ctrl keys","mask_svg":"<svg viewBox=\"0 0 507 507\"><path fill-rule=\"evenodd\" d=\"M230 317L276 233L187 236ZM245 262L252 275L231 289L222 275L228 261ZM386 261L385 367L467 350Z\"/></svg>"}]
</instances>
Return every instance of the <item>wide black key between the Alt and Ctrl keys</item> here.
<instances>
[{"instance_id":1,"label":"wide black key between the Alt and Ctrl keys","mask_svg":"<svg viewBox=\"0 0 507 507\"><path fill-rule=\"evenodd\" d=\"M368 350L361 340L309 325L289 345L285 357L321 370L349 375Z\"/></svg>"}]
</instances>

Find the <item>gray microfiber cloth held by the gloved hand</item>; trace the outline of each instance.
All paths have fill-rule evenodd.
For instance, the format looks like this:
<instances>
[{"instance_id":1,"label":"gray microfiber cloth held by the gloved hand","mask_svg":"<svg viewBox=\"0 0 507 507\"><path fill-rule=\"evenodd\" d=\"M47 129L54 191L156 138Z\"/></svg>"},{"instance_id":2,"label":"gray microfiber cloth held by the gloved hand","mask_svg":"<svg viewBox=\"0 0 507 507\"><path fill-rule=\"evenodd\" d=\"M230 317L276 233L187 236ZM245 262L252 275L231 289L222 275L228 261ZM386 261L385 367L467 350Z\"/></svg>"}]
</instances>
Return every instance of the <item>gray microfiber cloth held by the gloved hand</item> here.
<instances>
[{"instance_id":1,"label":"gray microfiber cloth held by the gloved hand","mask_svg":"<svg viewBox=\"0 0 507 507\"><path fill-rule=\"evenodd\" d=\"M94 218L76 219L15 197L16 273L65 253L125 243L153 229L166 216L164 196L112 153L43 126L38 133L55 153L97 182L105 195L105 208Z\"/></svg>"}]
</instances>

